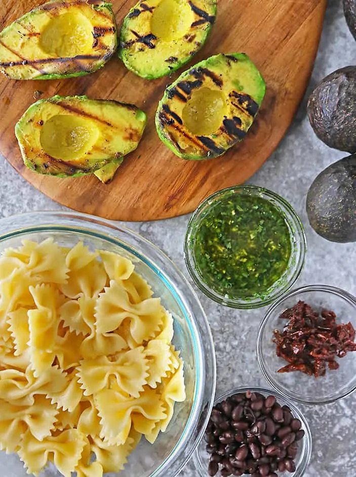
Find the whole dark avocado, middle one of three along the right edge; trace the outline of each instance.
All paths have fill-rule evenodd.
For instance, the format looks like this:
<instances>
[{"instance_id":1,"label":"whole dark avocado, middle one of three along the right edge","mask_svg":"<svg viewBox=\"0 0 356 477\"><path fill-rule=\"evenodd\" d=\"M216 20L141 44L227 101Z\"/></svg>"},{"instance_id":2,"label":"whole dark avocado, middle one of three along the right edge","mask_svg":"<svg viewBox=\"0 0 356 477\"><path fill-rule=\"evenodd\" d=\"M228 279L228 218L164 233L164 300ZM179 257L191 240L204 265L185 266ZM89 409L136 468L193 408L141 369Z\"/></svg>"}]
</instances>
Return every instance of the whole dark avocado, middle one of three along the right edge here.
<instances>
[{"instance_id":1,"label":"whole dark avocado, middle one of three along the right edge","mask_svg":"<svg viewBox=\"0 0 356 477\"><path fill-rule=\"evenodd\" d=\"M324 78L311 93L307 110L319 139L331 148L356 152L356 66Z\"/></svg>"}]
</instances>

